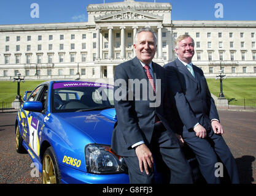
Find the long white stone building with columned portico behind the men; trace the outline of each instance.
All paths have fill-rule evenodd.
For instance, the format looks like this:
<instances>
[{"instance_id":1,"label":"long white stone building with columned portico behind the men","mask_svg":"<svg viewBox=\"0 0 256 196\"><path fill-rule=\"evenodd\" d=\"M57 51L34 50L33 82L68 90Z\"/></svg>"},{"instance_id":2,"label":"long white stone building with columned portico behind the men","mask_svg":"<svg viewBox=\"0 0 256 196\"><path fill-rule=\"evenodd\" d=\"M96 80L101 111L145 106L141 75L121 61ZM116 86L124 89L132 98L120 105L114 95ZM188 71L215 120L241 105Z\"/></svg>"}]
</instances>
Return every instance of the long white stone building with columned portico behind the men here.
<instances>
[{"instance_id":1,"label":"long white stone building with columned portico behind the men","mask_svg":"<svg viewBox=\"0 0 256 196\"><path fill-rule=\"evenodd\" d=\"M193 63L206 77L220 64L227 77L256 77L256 21L173 21L172 6L124 0L87 7L88 22L0 25L0 80L18 72L25 80L106 79L134 57L134 34L150 26L158 35L153 59L162 66L176 58L174 40L195 40Z\"/></svg>"}]
</instances>

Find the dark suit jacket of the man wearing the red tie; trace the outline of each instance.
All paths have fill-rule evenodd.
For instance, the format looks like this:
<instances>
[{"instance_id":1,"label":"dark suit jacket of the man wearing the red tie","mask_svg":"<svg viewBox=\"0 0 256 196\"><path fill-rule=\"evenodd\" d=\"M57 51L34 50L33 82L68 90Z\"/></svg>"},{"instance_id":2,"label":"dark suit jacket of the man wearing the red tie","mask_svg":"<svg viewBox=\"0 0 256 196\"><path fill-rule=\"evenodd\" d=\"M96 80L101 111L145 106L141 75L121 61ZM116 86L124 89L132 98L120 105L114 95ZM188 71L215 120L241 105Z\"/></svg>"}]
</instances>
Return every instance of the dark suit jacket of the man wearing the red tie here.
<instances>
[{"instance_id":1,"label":"dark suit jacket of the man wearing the red tie","mask_svg":"<svg viewBox=\"0 0 256 196\"><path fill-rule=\"evenodd\" d=\"M139 141L143 140L146 145L149 145L156 114L166 129L172 132L174 124L171 123L173 116L169 106L170 101L167 101L168 97L166 97L165 69L155 62L152 62L152 69L154 79L161 79L161 84L159 86L155 85L156 93L160 95L159 107L150 107L149 105L155 102L155 100L150 100L148 96L148 94L153 93L153 88L138 58L123 62L115 68L114 103L117 113L117 126L112 134L111 146L120 156L136 156L131 146ZM146 85L136 86L129 83L129 81L134 80L146 81ZM121 84L118 81L124 83ZM147 90L147 96L145 96L145 90ZM120 94L122 94L123 99L119 100L117 97Z\"/></svg>"}]
</instances>

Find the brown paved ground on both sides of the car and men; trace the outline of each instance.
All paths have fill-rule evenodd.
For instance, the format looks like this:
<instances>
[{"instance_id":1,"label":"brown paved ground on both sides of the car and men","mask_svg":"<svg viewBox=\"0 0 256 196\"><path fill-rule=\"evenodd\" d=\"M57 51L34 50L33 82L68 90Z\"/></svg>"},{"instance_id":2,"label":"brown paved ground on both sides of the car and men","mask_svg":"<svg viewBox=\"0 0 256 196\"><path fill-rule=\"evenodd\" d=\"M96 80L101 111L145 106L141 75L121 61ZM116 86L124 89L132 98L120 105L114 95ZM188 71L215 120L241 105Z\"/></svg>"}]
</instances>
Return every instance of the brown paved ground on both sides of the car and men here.
<instances>
[{"instance_id":1,"label":"brown paved ground on both sides of the car and men","mask_svg":"<svg viewBox=\"0 0 256 196\"><path fill-rule=\"evenodd\" d=\"M219 115L241 183L256 184L256 112L220 110ZM29 155L16 153L15 116L0 113L0 183L42 183L41 174L31 177L34 167Z\"/></svg>"}]
</instances>

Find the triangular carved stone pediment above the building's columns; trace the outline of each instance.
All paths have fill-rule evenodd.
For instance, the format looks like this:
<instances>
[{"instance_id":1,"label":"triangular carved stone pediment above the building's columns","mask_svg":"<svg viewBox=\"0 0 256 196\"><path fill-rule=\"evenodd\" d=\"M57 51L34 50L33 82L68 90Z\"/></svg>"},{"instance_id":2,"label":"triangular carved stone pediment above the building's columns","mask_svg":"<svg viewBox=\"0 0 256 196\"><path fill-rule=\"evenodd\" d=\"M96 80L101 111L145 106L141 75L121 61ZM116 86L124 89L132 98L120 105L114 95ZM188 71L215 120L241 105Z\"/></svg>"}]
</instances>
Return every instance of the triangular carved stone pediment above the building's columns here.
<instances>
[{"instance_id":1,"label":"triangular carved stone pediment above the building's columns","mask_svg":"<svg viewBox=\"0 0 256 196\"><path fill-rule=\"evenodd\" d=\"M163 17L158 15L153 15L151 13L140 12L138 10L122 10L120 12L115 12L111 14L102 15L100 17L95 17L95 22L104 21L159 21L163 20Z\"/></svg>"}]
</instances>

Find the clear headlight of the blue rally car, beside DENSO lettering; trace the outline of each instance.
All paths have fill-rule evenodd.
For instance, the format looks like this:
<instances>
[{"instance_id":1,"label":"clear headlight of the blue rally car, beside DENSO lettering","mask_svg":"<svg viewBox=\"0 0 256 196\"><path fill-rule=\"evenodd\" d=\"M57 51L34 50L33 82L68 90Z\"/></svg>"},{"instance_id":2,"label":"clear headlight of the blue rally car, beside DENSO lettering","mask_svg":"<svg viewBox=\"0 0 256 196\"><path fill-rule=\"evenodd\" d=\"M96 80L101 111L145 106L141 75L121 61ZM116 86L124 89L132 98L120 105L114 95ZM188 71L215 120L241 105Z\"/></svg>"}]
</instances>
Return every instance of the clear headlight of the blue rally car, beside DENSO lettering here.
<instances>
[{"instance_id":1,"label":"clear headlight of the blue rally car, beside DENSO lettering","mask_svg":"<svg viewBox=\"0 0 256 196\"><path fill-rule=\"evenodd\" d=\"M125 171L123 158L110 146L90 144L85 146L85 160L89 173L121 173Z\"/></svg>"}]
</instances>

